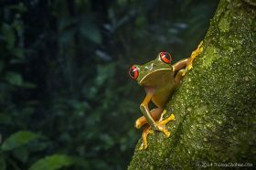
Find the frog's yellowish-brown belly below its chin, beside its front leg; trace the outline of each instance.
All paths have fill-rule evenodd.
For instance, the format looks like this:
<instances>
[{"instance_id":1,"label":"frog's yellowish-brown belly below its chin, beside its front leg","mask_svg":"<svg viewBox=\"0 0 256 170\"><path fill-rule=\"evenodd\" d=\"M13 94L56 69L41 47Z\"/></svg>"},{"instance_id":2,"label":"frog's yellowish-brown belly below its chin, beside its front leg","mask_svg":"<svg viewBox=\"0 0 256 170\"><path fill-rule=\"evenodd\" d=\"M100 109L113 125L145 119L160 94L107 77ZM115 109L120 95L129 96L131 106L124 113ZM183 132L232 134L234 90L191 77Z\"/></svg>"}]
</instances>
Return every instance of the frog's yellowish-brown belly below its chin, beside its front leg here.
<instances>
[{"instance_id":1,"label":"frog's yellowish-brown belly below its chin, beside its front leg","mask_svg":"<svg viewBox=\"0 0 256 170\"><path fill-rule=\"evenodd\" d=\"M164 109L166 102L169 101L175 89L175 87L168 87L168 90L156 90L152 97L152 101L157 107Z\"/></svg>"}]
</instances>

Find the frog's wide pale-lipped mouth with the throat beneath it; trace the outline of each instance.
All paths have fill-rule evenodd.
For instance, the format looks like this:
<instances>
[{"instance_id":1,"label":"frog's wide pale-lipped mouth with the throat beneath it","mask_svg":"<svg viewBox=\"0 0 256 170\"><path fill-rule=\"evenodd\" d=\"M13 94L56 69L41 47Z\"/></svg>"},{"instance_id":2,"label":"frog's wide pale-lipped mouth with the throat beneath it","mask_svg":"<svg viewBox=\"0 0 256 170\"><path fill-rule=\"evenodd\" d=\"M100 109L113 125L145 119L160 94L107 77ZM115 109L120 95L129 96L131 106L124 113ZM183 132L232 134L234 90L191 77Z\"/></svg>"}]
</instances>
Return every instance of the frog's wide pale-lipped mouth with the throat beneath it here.
<instances>
[{"instance_id":1,"label":"frog's wide pale-lipped mouth with the throat beneath it","mask_svg":"<svg viewBox=\"0 0 256 170\"><path fill-rule=\"evenodd\" d=\"M161 84L161 82L165 82L165 79L168 79L168 77L171 78L171 72L172 68L153 70L144 75L143 79L139 81L139 84L141 86L155 86Z\"/></svg>"}]
</instances>

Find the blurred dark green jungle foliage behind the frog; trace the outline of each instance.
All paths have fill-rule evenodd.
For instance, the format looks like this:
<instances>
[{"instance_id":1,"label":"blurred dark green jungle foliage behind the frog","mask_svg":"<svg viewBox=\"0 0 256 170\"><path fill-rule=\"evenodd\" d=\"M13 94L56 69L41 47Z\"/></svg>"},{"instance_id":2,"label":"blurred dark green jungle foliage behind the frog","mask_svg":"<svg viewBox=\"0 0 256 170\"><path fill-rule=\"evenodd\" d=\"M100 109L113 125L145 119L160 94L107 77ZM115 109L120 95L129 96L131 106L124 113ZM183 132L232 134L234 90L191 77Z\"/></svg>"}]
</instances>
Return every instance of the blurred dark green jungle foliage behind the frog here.
<instances>
[{"instance_id":1,"label":"blurred dark green jungle foliage behind the frog","mask_svg":"<svg viewBox=\"0 0 256 170\"><path fill-rule=\"evenodd\" d=\"M0 169L124 169L144 91L133 63L189 57L203 0L0 2Z\"/></svg>"}]
</instances>

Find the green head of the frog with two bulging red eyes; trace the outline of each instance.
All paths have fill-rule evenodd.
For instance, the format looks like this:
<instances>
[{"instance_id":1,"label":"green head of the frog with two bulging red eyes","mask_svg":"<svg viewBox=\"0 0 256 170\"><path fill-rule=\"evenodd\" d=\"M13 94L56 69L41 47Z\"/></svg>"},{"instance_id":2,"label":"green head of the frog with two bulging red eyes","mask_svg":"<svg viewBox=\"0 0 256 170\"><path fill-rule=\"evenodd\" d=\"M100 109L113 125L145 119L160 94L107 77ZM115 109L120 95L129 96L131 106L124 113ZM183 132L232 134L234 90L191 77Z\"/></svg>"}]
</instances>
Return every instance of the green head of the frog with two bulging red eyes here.
<instances>
[{"instance_id":1,"label":"green head of the frog with two bulging red eyes","mask_svg":"<svg viewBox=\"0 0 256 170\"><path fill-rule=\"evenodd\" d=\"M172 57L167 52L160 52L157 57L144 65L133 65L129 70L132 80L137 80L141 86L154 86L157 81L166 79L170 75Z\"/></svg>"}]
</instances>

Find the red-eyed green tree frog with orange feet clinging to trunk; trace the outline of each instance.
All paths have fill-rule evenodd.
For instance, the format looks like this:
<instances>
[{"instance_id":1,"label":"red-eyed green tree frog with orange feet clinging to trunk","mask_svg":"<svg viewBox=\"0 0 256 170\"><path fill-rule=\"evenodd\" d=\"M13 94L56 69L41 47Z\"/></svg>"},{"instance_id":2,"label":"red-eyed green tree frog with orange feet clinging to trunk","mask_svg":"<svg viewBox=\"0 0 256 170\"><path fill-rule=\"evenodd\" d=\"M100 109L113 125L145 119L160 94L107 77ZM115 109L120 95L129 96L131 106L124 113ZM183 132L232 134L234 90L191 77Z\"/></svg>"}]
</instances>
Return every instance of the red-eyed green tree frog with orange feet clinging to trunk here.
<instances>
[{"instance_id":1,"label":"red-eyed green tree frog with orange feet clinging to trunk","mask_svg":"<svg viewBox=\"0 0 256 170\"><path fill-rule=\"evenodd\" d=\"M182 59L173 65L171 65L173 60L171 55L168 52L160 52L154 60L141 66L133 65L129 69L129 75L132 80L136 80L140 86L143 86L146 93L144 101L140 105L140 110L144 116L137 119L134 124L137 129L145 125L142 134L143 143L139 148L140 150L147 148L147 135L149 133L160 131L165 133L166 137L170 136L165 124L175 120L175 115L171 114L163 120L165 104L169 101L174 90L176 90L186 70L192 68L193 59L201 52L199 51L201 50L199 46L190 58ZM183 69L186 66L189 66L189 68ZM151 111L148 107L150 101L155 103L156 106Z\"/></svg>"}]
</instances>

